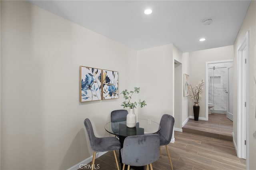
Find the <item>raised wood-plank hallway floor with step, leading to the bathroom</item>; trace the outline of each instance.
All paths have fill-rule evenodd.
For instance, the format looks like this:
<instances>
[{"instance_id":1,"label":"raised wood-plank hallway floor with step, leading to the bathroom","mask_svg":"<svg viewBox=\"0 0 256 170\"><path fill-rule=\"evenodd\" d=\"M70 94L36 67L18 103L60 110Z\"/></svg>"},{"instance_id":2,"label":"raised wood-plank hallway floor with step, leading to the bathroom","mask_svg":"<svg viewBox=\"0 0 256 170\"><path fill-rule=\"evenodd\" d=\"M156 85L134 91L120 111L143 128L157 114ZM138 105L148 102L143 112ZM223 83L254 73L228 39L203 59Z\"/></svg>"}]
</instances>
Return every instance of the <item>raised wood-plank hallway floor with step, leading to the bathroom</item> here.
<instances>
[{"instance_id":1,"label":"raised wood-plank hallway floor with step, leading to the bathroom","mask_svg":"<svg viewBox=\"0 0 256 170\"><path fill-rule=\"evenodd\" d=\"M189 119L186 125L182 127L182 131L223 140L233 140L233 122L227 119L224 114L212 113L208 115L208 121Z\"/></svg>"}]
</instances>

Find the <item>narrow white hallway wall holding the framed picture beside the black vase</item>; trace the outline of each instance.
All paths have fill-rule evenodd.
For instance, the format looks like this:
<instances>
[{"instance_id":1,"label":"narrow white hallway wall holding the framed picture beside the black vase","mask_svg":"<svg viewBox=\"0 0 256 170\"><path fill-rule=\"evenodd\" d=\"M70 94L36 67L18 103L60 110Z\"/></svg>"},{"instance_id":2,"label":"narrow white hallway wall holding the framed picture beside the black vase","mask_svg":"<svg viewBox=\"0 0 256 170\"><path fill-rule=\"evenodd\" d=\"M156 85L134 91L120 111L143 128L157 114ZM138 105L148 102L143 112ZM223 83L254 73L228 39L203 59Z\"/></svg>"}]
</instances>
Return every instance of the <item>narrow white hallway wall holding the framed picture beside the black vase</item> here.
<instances>
[{"instance_id":1,"label":"narrow white hallway wall holding the framed picture beside the black vase","mask_svg":"<svg viewBox=\"0 0 256 170\"><path fill-rule=\"evenodd\" d=\"M190 75L190 56L189 53L182 54L182 85L184 85L184 74ZM184 87L182 88L182 126L189 118L190 97L184 97Z\"/></svg>"}]
</instances>

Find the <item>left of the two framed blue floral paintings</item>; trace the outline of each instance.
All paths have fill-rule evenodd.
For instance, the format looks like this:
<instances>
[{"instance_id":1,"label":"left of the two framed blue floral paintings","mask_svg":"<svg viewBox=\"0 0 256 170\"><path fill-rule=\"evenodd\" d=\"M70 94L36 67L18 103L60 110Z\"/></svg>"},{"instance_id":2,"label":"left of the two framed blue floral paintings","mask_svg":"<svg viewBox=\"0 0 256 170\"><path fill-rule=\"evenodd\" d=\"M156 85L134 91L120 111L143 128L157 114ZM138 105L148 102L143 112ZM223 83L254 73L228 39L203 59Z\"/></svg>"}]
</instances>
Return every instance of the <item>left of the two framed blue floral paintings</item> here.
<instances>
[{"instance_id":1,"label":"left of the two framed blue floral paintings","mask_svg":"<svg viewBox=\"0 0 256 170\"><path fill-rule=\"evenodd\" d=\"M80 66L80 102L101 100L101 69Z\"/></svg>"}]
</instances>

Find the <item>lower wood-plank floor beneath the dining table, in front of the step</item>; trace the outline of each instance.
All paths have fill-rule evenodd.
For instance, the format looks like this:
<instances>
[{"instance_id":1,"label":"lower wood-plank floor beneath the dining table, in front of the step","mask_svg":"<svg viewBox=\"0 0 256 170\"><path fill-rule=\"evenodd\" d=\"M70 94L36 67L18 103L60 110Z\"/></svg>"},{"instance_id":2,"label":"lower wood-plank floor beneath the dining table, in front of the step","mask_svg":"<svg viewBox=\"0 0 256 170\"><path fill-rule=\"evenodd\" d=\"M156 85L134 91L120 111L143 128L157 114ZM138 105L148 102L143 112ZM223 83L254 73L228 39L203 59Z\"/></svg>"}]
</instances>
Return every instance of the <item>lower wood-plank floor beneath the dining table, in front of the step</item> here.
<instances>
[{"instance_id":1,"label":"lower wood-plank floor beneath the dining table, in front of the step","mask_svg":"<svg viewBox=\"0 0 256 170\"><path fill-rule=\"evenodd\" d=\"M175 142L168 144L174 170L245 170L246 160L236 156L231 141L191 134L174 132ZM170 170L165 147L162 157L153 163L154 170ZM117 150L119 156L119 151ZM116 170L112 151L95 160L100 170Z\"/></svg>"}]
</instances>

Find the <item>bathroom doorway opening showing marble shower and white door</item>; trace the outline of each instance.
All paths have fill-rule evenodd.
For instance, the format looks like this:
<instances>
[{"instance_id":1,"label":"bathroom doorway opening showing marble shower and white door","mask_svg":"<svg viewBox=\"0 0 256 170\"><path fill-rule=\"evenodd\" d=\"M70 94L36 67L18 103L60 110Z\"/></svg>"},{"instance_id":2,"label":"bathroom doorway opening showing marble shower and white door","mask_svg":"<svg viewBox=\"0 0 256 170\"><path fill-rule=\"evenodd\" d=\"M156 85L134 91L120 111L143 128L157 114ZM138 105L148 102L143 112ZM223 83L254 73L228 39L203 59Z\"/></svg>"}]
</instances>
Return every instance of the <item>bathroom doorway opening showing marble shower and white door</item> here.
<instances>
[{"instance_id":1,"label":"bathroom doorway opening showing marble shower and white door","mask_svg":"<svg viewBox=\"0 0 256 170\"><path fill-rule=\"evenodd\" d=\"M233 121L233 60L206 62L205 88L206 120L216 113Z\"/></svg>"}]
</instances>

